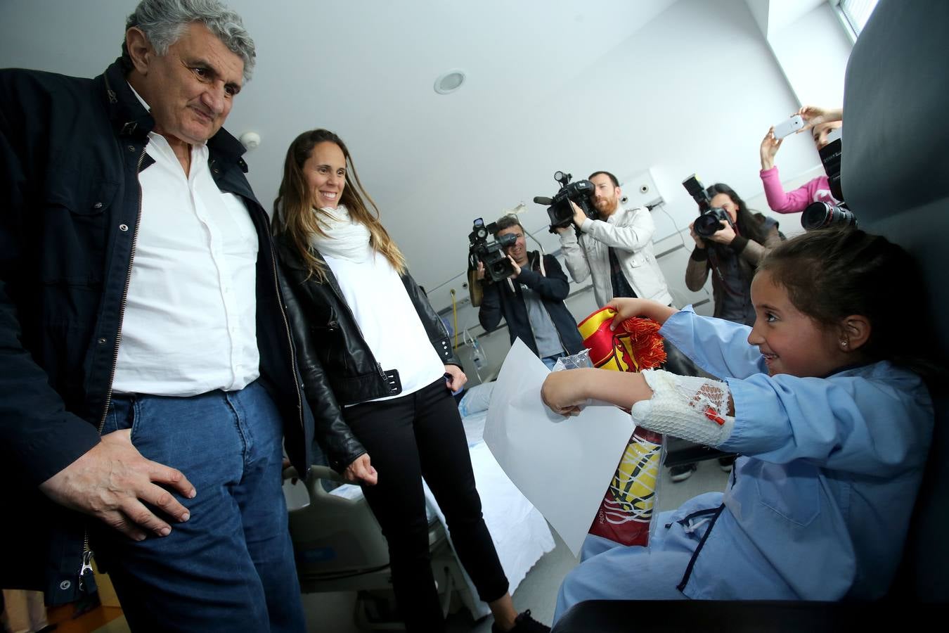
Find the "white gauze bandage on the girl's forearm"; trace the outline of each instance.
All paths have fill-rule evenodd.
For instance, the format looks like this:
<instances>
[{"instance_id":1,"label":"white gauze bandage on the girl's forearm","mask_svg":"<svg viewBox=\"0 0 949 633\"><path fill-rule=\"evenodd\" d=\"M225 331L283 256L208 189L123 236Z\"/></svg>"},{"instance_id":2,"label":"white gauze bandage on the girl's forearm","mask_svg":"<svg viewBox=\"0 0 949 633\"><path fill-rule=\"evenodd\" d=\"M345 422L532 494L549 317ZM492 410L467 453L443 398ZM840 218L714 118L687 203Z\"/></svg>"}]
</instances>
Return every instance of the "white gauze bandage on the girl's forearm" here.
<instances>
[{"instance_id":1,"label":"white gauze bandage on the girl's forearm","mask_svg":"<svg viewBox=\"0 0 949 633\"><path fill-rule=\"evenodd\" d=\"M642 378L653 397L633 405L633 421L638 425L707 446L717 446L732 435L735 418L728 415L726 383L661 369L646 369Z\"/></svg>"}]
</instances>

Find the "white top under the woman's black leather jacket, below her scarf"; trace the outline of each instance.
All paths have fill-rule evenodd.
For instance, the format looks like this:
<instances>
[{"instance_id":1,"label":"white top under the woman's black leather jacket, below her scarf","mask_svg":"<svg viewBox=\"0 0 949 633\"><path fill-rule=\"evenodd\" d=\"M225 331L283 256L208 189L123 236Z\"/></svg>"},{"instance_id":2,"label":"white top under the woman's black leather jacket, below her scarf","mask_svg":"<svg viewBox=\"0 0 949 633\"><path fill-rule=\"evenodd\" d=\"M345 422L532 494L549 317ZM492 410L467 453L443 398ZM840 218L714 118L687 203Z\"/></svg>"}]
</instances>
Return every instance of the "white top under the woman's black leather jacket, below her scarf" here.
<instances>
[{"instance_id":1,"label":"white top under the woman's black leather jacket, below her scarf","mask_svg":"<svg viewBox=\"0 0 949 633\"><path fill-rule=\"evenodd\" d=\"M441 378L445 365L389 260L368 243L362 257L322 254L376 362L399 370L401 393L376 400L407 396Z\"/></svg>"}]
</instances>

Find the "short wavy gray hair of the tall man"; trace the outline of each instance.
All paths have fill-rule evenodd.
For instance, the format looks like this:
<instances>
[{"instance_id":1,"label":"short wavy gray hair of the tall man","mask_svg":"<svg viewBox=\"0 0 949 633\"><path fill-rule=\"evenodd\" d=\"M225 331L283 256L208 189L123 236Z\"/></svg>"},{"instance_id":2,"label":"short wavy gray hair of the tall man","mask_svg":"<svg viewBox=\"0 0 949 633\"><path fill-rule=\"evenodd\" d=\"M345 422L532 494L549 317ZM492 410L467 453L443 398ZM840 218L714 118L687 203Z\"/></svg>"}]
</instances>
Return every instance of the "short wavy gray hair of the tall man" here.
<instances>
[{"instance_id":1,"label":"short wavy gray hair of the tall man","mask_svg":"<svg viewBox=\"0 0 949 633\"><path fill-rule=\"evenodd\" d=\"M217 0L141 0L128 16L125 30L137 27L145 34L158 55L164 55L192 23L198 22L244 62L244 81L251 80L254 50L250 33L240 16ZM122 58L130 63L128 48L122 40Z\"/></svg>"}]
</instances>

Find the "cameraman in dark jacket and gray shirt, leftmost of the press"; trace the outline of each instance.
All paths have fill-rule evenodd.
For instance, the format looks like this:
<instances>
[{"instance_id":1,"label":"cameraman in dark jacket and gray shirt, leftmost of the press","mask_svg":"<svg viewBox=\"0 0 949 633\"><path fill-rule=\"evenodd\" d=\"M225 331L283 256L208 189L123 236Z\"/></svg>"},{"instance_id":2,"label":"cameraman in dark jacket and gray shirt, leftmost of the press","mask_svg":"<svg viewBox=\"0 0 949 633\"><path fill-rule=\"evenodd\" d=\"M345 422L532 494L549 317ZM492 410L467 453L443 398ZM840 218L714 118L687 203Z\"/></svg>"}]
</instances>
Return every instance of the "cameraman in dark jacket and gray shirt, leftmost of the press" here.
<instances>
[{"instance_id":1,"label":"cameraman in dark jacket and gray shirt, leftmost of the press","mask_svg":"<svg viewBox=\"0 0 949 633\"><path fill-rule=\"evenodd\" d=\"M484 288L478 321L490 332L503 316L511 343L519 338L552 369L561 356L584 348L576 321L564 305L570 289L567 275L553 255L527 250L524 227L515 215L501 217L495 226L494 239L499 242L505 235L514 237L514 243L505 248L513 273ZM484 276L484 264L478 262L477 278Z\"/></svg>"}]
</instances>

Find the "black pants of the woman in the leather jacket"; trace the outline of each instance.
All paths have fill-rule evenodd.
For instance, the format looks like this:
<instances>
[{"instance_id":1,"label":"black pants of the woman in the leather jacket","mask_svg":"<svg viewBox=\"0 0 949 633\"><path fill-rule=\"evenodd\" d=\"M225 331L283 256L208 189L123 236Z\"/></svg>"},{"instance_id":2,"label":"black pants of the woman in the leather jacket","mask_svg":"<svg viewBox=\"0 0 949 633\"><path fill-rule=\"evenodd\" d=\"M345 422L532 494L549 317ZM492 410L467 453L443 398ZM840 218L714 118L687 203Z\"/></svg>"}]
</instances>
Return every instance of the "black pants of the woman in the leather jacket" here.
<instances>
[{"instance_id":1,"label":"black pants of the woman in the leather jacket","mask_svg":"<svg viewBox=\"0 0 949 633\"><path fill-rule=\"evenodd\" d=\"M444 380L408 396L347 407L344 415L379 473L379 483L363 486L363 493L389 544L392 584L406 629L444 630L422 476L481 600L492 602L507 593L508 579L481 516L461 418Z\"/></svg>"}]
</instances>

